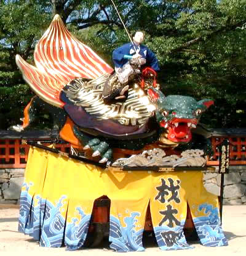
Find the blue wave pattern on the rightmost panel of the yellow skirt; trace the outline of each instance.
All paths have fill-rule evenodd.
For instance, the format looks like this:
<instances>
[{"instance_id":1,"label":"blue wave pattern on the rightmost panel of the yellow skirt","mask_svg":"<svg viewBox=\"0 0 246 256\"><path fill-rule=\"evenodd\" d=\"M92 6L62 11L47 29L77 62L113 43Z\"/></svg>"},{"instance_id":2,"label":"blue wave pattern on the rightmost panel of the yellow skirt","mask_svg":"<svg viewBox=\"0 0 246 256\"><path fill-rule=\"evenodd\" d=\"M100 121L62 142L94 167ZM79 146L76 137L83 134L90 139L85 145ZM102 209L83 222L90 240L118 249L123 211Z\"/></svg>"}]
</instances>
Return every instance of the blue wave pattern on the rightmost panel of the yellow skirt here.
<instances>
[{"instance_id":1,"label":"blue wave pattern on the rightmost panel of the yellow skirt","mask_svg":"<svg viewBox=\"0 0 246 256\"><path fill-rule=\"evenodd\" d=\"M228 246L228 241L221 228L218 208L210 204L200 204L198 210L207 216L193 218L197 235L203 246Z\"/></svg>"}]
</instances>

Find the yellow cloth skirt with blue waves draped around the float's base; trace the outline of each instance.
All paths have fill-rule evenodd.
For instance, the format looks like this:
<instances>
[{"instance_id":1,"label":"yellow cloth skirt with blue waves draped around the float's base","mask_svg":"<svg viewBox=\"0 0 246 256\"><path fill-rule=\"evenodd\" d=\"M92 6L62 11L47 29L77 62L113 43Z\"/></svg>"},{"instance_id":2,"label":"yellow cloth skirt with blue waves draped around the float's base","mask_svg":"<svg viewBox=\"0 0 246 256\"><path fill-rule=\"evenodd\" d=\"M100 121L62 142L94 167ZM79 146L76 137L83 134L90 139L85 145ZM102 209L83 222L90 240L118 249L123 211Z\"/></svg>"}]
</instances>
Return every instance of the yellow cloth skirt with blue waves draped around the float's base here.
<instances>
[{"instance_id":1,"label":"yellow cloth skirt with blue waves draped around the float's base","mask_svg":"<svg viewBox=\"0 0 246 256\"><path fill-rule=\"evenodd\" d=\"M156 173L103 170L35 147L30 148L20 198L19 231L41 246L79 249L87 236L95 199L111 200L109 241L117 252L142 251L150 205L162 250L189 249L183 233L187 204L200 242L227 245L218 197L208 193L200 171Z\"/></svg>"}]
</instances>

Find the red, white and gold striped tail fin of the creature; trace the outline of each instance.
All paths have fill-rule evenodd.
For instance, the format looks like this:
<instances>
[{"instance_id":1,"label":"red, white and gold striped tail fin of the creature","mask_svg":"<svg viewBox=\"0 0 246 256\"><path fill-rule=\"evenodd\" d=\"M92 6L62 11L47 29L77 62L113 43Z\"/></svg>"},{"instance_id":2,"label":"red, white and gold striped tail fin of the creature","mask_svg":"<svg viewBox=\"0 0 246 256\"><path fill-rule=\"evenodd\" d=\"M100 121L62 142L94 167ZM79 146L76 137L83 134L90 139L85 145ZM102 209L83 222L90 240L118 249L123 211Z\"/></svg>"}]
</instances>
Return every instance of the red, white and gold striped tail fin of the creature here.
<instances>
[{"instance_id":1,"label":"red, white and gold striped tail fin of the creature","mask_svg":"<svg viewBox=\"0 0 246 256\"><path fill-rule=\"evenodd\" d=\"M58 14L36 44L34 62L36 67L16 56L26 83L41 99L56 107L63 107L60 91L69 81L113 72L90 47L71 35Z\"/></svg>"}]
</instances>

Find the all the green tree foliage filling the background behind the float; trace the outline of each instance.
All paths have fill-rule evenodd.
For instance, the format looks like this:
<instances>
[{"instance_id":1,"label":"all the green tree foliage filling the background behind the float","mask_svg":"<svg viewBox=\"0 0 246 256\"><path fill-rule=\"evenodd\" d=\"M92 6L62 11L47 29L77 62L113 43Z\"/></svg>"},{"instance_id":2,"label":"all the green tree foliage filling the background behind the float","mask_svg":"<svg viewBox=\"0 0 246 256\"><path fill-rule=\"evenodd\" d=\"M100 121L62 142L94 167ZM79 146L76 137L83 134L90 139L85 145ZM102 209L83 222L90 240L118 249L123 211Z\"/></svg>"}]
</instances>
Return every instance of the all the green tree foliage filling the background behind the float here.
<instances>
[{"instance_id":1,"label":"all the green tree foliage filling the background behind the float","mask_svg":"<svg viewBox=\"0 0 246 256\"><path fill-rule=\"evenodd\" d=\"M245 127L246 0L114 2L130 35L145 32L145 44L159 59L165 94L213 98L204 123ZM15 54L32 62L34 44L57 13L111 65L113 49L129 41L110 0L0 0L0 128L16 123L14 109L19 113L30 99ZM6 95L13 99L9 106Z\"/></svg>"}]
</instances>

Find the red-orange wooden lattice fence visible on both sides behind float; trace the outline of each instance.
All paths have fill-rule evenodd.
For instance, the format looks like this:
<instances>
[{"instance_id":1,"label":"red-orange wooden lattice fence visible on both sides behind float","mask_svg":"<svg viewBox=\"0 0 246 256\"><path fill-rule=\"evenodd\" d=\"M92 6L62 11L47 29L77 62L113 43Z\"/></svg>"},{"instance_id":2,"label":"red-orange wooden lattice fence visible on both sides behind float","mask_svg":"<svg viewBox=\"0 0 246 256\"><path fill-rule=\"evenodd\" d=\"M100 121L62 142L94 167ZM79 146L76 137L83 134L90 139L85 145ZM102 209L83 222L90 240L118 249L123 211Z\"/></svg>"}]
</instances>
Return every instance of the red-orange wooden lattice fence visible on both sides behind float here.
<instances>
[{"instance_id":1,"label":"red-orange wooden lattice fence visible on both sides behind float","mask_svg":"<svg viewBox=\"0 0 246 256\"><path fill-rule=\"evenodd\" d=\"M207 165L218 165L220 144L225 137L212 137L212 146L215 154L209 160ZM231 137L228 138L230 146L230 164L246 165L246 138ZM0 139L0 168L25 168L28 157L29 147L22 144L21 139ZM69 144L55 144L55 147L62 152L69 152Z\"/></svg>"}]
</instances>

